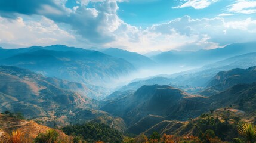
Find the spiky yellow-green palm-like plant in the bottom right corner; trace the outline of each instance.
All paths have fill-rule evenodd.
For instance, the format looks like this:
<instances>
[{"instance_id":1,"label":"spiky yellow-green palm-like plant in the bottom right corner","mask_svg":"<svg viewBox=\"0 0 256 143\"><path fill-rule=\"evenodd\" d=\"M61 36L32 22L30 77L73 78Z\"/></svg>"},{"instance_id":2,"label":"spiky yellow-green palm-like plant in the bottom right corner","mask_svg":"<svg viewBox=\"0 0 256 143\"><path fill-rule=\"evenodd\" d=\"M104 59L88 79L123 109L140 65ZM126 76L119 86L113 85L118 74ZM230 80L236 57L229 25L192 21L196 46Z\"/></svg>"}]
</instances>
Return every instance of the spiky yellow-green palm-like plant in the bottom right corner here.
<instances>
[{"instance_id":1,"label":"spiky yellow-green palm-like plant in the bottom right corner","mask_svg":"<svg viewBox=\"0 0 256 143\"><path fill-rule=\"evenodd\" d=\"M251 123L242 123L238 126L238 133L246 138L248 143L256 139L256 126Z\"/></svg>"}]
</instances>

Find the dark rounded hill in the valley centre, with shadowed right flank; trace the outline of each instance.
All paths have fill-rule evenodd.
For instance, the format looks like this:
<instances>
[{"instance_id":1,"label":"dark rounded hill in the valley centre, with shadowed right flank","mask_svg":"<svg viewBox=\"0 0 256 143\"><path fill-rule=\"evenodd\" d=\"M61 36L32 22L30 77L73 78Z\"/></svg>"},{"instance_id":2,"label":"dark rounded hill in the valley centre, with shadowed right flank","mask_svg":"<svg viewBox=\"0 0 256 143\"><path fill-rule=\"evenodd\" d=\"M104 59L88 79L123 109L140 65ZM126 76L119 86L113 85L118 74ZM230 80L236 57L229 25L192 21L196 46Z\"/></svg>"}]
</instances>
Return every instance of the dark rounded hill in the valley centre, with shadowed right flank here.
<instances>
[{"instance_id":1,"label":"dark rounded hill in the valley centre, with shadowed right flank","mask_svg":"<svg viewBox=\"0 0 256 143\"><path fill-rule=\"evenodd\" d=\"M121 116L132 125L148 114L168 115L175 103L185 96L188 96L186 92L170 86L142 86L134 94L105 101L101 110Z\"/></svg>"}]
</instances>

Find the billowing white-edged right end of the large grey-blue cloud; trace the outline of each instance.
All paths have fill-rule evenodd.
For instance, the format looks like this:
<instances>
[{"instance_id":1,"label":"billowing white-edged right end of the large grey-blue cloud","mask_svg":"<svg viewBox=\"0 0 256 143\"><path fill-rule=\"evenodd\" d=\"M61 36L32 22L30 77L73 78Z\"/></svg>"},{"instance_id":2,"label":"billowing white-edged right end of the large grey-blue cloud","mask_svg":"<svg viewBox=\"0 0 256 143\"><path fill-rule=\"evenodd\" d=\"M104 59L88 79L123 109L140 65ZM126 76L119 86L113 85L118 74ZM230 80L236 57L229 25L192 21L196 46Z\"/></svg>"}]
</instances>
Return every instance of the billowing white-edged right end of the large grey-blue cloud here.
<instances>
[{"instance_id":1,"label":"billowing white-edged right end of the large grey-blue cloud","mask_svg":"<svg viewBox=\"0 0 256 143\"><path fill-rule=\"evenodd\" d=\"M116 1L104 1L95 5L95 8L81 6L56 21L70 24L73 30L89 39L93 43L106 43L113 41L113 32L121 25L116 11Z\"/></svg>"}]
</instances>

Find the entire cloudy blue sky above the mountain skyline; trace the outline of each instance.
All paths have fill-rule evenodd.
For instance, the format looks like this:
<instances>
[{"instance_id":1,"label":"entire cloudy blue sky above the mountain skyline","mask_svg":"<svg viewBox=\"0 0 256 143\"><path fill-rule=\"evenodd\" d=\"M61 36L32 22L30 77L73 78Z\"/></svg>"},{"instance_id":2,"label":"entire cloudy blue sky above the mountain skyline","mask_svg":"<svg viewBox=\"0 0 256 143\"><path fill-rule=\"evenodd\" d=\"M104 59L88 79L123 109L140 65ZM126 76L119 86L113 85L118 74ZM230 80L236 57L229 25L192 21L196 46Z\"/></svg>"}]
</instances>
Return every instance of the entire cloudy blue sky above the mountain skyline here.
<instances>
[{"instance_id":1,"label":"entire cloudy blue sky above the mountain skyline","mask_svg":"<svg viewBox=\"0 0 256 143\"><path fill-rule=\"evenodd\" d=\"M196 51L256 41L256 0L0 0L0 46Z\"/></svg>"}]
</instances>

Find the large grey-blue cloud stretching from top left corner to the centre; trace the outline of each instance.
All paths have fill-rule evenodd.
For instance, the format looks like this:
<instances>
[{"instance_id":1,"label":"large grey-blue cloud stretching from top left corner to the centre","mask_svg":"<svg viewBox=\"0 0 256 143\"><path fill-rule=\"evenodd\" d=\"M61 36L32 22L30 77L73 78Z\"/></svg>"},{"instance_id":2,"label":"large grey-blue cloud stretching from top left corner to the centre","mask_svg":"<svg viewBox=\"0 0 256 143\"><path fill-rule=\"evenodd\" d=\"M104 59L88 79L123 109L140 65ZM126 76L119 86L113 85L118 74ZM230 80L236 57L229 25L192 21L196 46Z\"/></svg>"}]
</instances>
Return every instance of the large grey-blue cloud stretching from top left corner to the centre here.
<instances>
[{"instance_id":1,"label":"large grey-blue cloud stretching from top left corner to the centre","mask_svg":"<svg viewBox=\"0 0 256 143\"><path fill-rule=\"evenodd\" d=\"M116 14L118 10L117 2L121 1L78 0L77 2L80 5L73 9L64 7L66 2L64 0L42 0L40 2L35 2L34 0L21 0L17 2L1 1L2 5L0 9L2 11L0 11L0 14L7 17L5 15L8 13L8 15L13 15L15 18L18 15L17 13L44 15L57 23L69 24L87 42L107 43L115 40L113 32L124 23ZM90 2L94 3L94 8L87 7ZM20 7L17 7L18 4L20 4ZM7 6L10 7L10 10L4 9ZM126 26L126 24L123 26Z\"/></svg>"}]
</instances>

